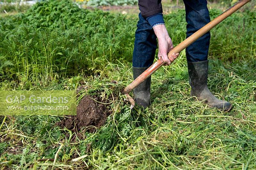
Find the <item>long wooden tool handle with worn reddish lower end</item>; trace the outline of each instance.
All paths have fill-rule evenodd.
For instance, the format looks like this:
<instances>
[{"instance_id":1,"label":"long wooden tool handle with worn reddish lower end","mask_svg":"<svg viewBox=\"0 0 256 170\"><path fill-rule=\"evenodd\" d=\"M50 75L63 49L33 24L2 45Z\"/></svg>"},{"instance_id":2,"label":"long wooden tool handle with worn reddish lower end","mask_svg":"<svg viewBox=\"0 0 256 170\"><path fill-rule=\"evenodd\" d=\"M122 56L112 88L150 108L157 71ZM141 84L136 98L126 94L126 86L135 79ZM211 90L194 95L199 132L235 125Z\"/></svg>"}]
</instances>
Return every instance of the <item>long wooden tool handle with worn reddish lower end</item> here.
<instances>
[{"instance_id":1,"label":"long wooden tool handle with worn reddish lower end","mask_svg":"<svg viewBox=\"0 0 256 170\"><path fill-rule=\"evenodd\" d=\"M205 33L209 32L214 26L218 25L221 21L228 18L231 14L236 12L238 9L240 9L242 6L250 2L251 0L241 0L238 3L236 3L234 6L230 7L227 11L223 12L220 16L213 19L208 24L204 25L201 29L199 29L197 32L189 36L187 39L182 41L179 45L172 48L172 50L168 53L168 58L171 57L172 53L180 53L182 50L184 50L187 46L195 42L198 38L202 37ZM144 71L142 74L140 74L139 77L137 77L132 83L127 86L122 93L128 94L132 89L136 88L141 82L146 80L151 74L153 74L158 68L164 65L163 59L159 59L156 61L152 66L148 67L146 71Z\"/></svg>"}]
</instances>

